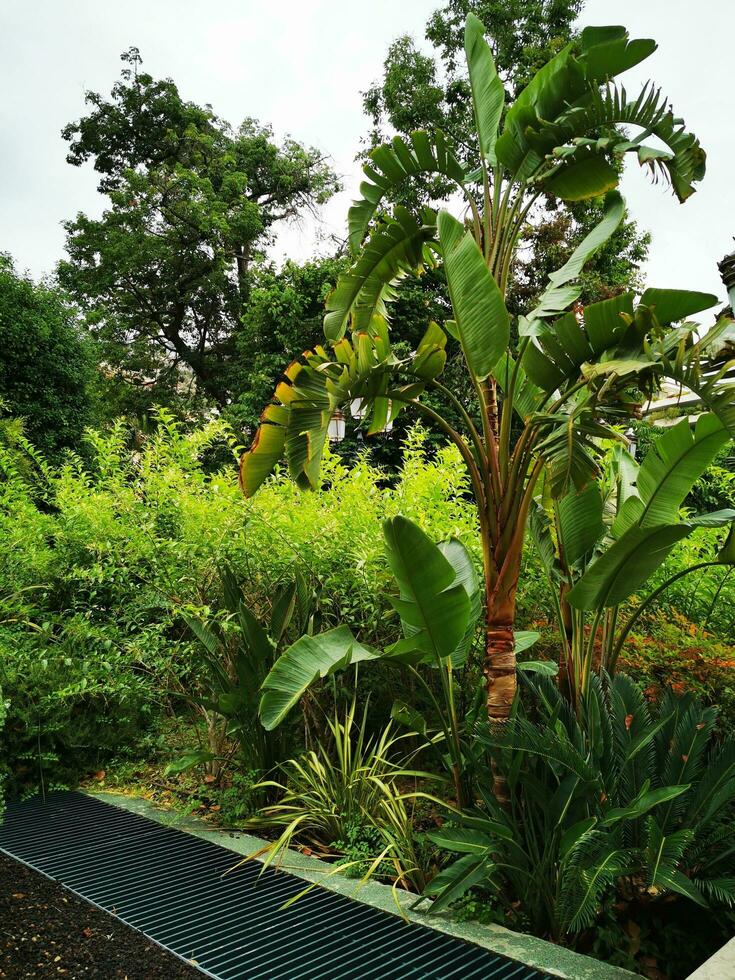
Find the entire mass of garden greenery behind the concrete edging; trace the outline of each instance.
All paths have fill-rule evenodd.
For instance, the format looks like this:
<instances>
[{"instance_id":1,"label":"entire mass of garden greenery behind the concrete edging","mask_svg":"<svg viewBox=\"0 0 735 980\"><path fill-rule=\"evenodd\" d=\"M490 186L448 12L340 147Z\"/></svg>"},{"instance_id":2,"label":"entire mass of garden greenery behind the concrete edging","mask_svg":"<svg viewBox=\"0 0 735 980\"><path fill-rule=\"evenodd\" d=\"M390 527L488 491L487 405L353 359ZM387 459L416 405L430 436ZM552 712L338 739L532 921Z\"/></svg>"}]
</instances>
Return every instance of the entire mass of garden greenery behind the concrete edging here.
<instances>
[{"instance_id":1,"label":"entire mass of garden greenery behind the concrete edging","mask_svg":"<svg viewBox=\"0 0 735 980\"><path fill-rule=\"evenodd\" d=\"M135 48L88 94L67 292L0 261L0 790L163 790L678 980L735 922L733 325L641 289L622 161L684 201L705 155L581 6L396 42L302 265L265 249L318 152ZM696 419L641 422L672 382Z\"/></svg>"}]
</instances>

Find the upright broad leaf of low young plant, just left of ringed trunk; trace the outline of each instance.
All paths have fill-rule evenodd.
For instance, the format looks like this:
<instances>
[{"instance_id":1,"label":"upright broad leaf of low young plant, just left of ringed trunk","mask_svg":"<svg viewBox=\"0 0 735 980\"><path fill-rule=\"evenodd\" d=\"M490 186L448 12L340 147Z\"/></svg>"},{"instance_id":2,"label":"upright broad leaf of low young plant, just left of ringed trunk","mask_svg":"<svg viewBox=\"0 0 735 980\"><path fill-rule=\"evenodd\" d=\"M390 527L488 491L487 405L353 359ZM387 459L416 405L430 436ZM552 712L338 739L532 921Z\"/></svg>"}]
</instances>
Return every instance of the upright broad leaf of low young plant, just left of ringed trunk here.
<instances>
[{"instance_id":1,"label":"upright broad leaf of low young plant, just left of ringed trunk","mask_svg":"<svg viewBox=\"0 0 735 980\"><path fill-rule=\"evenodd\" d=\"M465 561L456 545L447 549L450 556L462 559L463 571L458 575L449 557L405 517L385 521L383 534L388 564L400 589L391 603L406 634L388 652L397 656L420 651L438 665L467 635L472 615L469 558Z\"/></svg>"}]
</instances>

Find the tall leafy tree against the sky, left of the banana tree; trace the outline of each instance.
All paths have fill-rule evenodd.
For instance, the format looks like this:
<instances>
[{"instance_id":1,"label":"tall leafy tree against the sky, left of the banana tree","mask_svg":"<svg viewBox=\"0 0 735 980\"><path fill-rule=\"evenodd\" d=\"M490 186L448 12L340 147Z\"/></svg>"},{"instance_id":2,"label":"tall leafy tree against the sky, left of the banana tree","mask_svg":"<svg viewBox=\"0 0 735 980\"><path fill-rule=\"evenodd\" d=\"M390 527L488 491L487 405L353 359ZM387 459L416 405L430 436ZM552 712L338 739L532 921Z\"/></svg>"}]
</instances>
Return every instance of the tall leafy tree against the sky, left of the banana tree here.
<instances>
[{"instance_id":1,"label":"tall leafy tree against the sky, left of the banana tree","mask_svg":"<svg viewBox=\"0 0 735 980\"><path fill-rule=\"evenodd\" d=\"M254 119L233 128L140 71L137 49L122 58L109 99L89 92L89 114L63 130L67 160L93 162L109 206L66 223L59 279L116 379L152 401L193 381L224 405L253 262L338 182L317 150Z\"/></svg>"}]
</instances>

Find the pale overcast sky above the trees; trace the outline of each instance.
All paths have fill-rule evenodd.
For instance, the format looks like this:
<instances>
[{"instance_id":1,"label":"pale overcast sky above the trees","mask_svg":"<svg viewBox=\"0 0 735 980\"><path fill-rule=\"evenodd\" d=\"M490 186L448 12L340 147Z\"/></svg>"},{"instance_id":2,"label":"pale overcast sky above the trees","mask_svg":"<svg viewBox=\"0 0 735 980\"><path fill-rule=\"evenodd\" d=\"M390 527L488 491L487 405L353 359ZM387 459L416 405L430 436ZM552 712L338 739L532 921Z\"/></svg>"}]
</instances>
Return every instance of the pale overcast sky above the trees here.
<instances>
[{"instance_id":1,"label":"pale overcast sky above the trees","mask_svg":"<svg viewBox=\"0 0 735 980\"><path fill-rule=\"evenodd\" d=\"M39 277L63 254L64 218L98 214L91 167L65 162L60 130L84 92L108 93L120 52L137 45L145 70L238 123L254 116L328 153L345 191L320 225L279 238L274 255L304 259L318 238L343 234L357 191L354 156L367 130L361 92L380 77L389 42L423 37L439 0L0 0L0 251ZM707 176L685 205L629 164L622 190L653 233L651 285L724 298L716 262L735 235L735 2L588 0L582 24L623 23L659 50L625 76L653 77L708 153ZM325 246L322 242L321 250Z\"/></svg>"}]
</instances>

